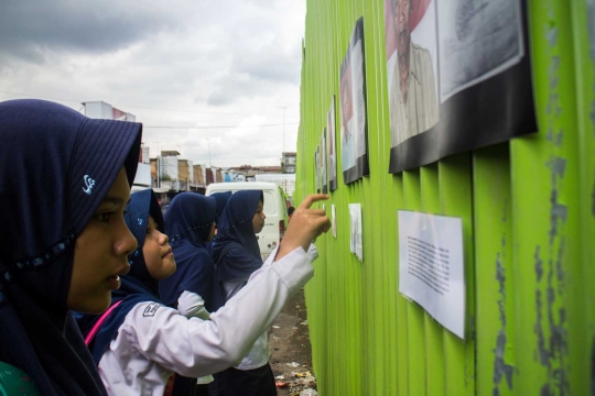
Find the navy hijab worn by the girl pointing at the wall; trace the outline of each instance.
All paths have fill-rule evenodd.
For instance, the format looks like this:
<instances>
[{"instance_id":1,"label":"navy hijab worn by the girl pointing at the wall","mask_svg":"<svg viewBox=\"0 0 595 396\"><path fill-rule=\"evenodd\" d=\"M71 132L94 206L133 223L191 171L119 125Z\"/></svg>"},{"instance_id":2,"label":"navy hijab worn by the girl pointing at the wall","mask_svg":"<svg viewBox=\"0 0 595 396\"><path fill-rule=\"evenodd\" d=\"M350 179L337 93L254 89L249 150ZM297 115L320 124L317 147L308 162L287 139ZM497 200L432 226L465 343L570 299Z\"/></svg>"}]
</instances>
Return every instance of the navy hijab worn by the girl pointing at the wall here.
<instances>
[{"instance_id":1,"label":"navy hijab worn by the girl pointing at the wall","mask_svg":"<svg viewBox=\"0 0 595 396\"><path fill-rule=\"evenodd\" d=\"M134 193L130 196L127 213L125 215L126 224L138 242L137 250L128 256L130 272L120 276L121 286L118 290L111 293L111 305L123 300L104 321L101 328L89 344L93 360L99 364L105 351L118 333L126 316L137 304L145 301L161 302L159 299L159 285L147 268L142 246L147 237L147 227L149 216L155 220L158 229L163 232L163 215L159 207L155 194L152 189L145 189ZM95 322L99 319L98 315L84 315L77 319L83 334L87 334Z\"/></svg>"}]
</instances>

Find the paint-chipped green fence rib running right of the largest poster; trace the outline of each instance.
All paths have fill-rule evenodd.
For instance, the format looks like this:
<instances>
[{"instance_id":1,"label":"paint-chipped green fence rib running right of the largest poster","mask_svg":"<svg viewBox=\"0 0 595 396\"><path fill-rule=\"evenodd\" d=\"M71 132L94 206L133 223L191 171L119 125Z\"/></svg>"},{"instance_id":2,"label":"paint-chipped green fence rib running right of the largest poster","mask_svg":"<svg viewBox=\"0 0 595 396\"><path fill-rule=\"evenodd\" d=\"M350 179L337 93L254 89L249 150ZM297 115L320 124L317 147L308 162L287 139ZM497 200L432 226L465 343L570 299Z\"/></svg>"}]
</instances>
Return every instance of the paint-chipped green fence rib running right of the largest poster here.
<instances>
[{"instance_id":1,"label":"paint-chipped green fence rib running right of the largest poster","mask_svg":"<svg viewBox=\"0 0 595 396\"><path fill-rule=\"evenodd\" d=\"M578 145L571 4L534 1L531 41L540 133L510 144L519 392L586 394ZM583 364L581 364L581 363ZM580 392L583 385L583 392Z\"/></svg>"}]
</instances>

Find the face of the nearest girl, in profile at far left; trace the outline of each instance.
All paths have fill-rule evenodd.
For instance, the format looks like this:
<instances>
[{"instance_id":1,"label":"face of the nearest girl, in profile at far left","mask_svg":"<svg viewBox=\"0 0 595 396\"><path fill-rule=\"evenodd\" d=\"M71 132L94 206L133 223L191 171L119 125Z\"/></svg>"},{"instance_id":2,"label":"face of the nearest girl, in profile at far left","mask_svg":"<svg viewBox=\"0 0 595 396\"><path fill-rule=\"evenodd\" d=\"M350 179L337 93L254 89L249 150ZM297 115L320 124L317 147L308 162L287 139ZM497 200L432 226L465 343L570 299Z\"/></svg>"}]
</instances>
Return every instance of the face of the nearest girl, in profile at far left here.
<instances>
[{"instance_id":1,"label":"face of the nearest girl, in profile at far left","mask_svg":"<svg viewBox=\"0 0 595 396\"><path fill-rule=\"evenodd\" d=\"M105 311L111 301L111 292L120 287L120 275L130 271L128 254L137 249L137 240L123 219L129 199L130 186L122 167L76 239L68 309L89 314Z\"/></svg>"}]
</instances>

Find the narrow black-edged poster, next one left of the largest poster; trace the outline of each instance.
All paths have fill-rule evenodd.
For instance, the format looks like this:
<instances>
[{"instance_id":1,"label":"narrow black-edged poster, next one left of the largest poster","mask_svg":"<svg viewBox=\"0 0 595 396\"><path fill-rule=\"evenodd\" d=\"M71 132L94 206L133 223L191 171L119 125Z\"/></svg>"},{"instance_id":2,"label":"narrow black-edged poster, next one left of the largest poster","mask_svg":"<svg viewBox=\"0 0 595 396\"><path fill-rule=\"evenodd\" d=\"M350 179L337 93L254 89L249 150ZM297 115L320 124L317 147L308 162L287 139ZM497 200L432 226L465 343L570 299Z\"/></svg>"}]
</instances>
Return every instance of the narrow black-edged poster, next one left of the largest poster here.
<instances>
[{"instance_id":1,"label":"narrow black-edged poster, next one left of the largest poster","mask_svg":"<svg viewBox=\"0 0 595 396\"><path fill-rule=\"evenodd\" d=\"M360 18L340 65L340 155L345 184L369 174L365 82L364 18Z\"/></svg>"}]
</instances>

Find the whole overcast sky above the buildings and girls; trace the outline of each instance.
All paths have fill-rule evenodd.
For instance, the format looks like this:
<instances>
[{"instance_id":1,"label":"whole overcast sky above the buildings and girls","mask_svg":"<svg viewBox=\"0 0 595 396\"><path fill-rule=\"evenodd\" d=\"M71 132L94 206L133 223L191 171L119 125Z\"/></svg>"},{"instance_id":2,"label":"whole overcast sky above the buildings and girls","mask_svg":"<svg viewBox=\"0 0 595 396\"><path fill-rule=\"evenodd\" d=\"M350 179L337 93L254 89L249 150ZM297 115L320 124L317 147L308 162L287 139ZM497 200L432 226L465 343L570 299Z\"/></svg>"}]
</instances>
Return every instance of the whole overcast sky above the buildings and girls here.
<instances>
[{"instance_id":1,"label":"whole overcast sky above the buildings and girls","mask_svg":"<svg viewBox=\"0 0 595 396\"><path fill-rule=\"evenodd\" d=\"M304 19L305 0L2 0L0 100L101 100L144 124L151 156L208 164L209 142L214 166L279 165L295 151Z\"/></svg>"}]
</instances>

